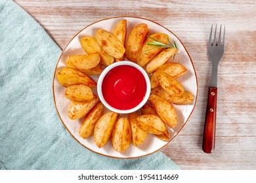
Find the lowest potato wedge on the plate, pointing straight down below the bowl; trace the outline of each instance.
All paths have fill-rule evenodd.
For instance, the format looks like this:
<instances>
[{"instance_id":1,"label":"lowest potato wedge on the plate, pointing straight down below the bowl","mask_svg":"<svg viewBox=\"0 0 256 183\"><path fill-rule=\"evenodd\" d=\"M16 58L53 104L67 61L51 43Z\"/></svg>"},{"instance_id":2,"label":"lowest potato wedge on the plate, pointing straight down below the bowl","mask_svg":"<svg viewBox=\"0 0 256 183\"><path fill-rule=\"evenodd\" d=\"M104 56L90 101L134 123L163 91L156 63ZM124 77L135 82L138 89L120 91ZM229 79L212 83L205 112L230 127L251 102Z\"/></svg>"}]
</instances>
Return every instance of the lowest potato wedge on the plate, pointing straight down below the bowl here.
<instances>
[{"instance_id":1,"label":"lowest potato wedge on the plate, pointing straight down below the bowl","mask_svg":"<svg viewBox=\"0 0 256 183\"><path fill-rule=\"evenodd\" d=\"M127 117L117 120L112 132L112 145L118 152L123 152L131 144L131 123Z\"/></svg>"}]
</instances>

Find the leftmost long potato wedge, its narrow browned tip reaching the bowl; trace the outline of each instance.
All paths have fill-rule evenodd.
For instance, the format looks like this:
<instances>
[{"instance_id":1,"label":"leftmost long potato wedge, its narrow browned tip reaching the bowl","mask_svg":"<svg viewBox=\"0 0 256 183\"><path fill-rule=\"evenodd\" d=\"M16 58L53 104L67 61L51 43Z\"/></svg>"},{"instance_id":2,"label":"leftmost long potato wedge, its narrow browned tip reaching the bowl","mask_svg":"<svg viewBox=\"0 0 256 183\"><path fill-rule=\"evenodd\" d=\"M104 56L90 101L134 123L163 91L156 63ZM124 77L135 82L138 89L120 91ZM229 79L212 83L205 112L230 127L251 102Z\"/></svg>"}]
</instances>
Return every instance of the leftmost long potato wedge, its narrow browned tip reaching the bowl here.
<instances>
[{"instance_id":1,"label":"leftmost long potato wedge, its narrow browned tip reaching the bowl","mask_svg":"<svg viewBox=\"0 0 256 183\"><path fill-rule=\"evenodd\" d=\"M93 78L75 69L64 67L57 73L58 82L64 87L74 84L83 84L89 88L96 88L97 84Z\"/></svg>"}]
</instances>

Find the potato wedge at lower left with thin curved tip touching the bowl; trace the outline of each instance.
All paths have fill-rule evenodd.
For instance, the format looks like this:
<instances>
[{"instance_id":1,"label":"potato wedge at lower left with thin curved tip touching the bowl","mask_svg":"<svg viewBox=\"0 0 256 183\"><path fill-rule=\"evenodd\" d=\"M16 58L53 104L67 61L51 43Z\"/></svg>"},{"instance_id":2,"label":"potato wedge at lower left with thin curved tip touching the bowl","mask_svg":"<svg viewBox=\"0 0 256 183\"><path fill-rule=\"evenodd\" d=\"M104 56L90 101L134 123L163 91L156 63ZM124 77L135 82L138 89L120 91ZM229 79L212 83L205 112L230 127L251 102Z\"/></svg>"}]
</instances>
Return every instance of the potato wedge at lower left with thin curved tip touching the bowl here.
<instances>
[{"instance_id":1,"label":"potato wedge at lower left with thin curved tip touching the bowl","mask_svg":"<svg viewBox=\"0 0 256 183\"><path fill-rule=\"evenodd\" d=\"M90 110L96 105L98 102L98 97L93 95L93 99L91 101L86 102L72 102L70 107L68 108L68 117L71 120L76 120L78 118L82 118Z\"/></svg>"}]
</instances>

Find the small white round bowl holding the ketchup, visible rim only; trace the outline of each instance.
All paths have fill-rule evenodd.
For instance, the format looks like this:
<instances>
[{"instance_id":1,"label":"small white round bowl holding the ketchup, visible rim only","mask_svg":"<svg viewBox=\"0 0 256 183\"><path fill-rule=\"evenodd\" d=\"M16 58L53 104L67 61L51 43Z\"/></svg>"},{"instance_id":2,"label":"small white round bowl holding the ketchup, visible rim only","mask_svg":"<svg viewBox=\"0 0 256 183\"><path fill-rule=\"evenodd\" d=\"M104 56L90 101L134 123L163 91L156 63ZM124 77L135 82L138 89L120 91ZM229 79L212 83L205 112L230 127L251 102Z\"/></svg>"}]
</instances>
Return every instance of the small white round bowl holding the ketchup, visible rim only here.
<instances>
[{"instance_id":1,"label":"small white round bowl holding the ketchup, visible rim only","mask_svg":"<svg viewBox=\"0 0 256 183\"><path fill-rule=\"evenodd\" d=\"M144 95L144 98L139 103L139 105L137 105L134 108L127 109L127 110L122 110L122 109L112 107L111 105L109 105L106 102L106 100L104 99L103 94L102 94L102 82L104 80L104 77L112 69L114 69L115 67L117 67L119 65L128 65L131 67L135 67L136 69L138 69L140 71L140 73L142 73L142 75L144 76L144 78L146 80L146 93ZM100 76L98 78L97 92L98 92L98 97L100 98L100 101L103 103L103 105L106 108L108 108L109 110L112 110L113 112L117 112L119 114L129 114L131 112L135 112L135 111L139 110L146 103L146 101L148 101L148 97L150 96L150 91L151 91L151 86L150 86L150 79L148 77L148 74L146 73L146 71L144 71L144 69L142 67L140 67L140 65L138 65L137 63L133 63L132 61L118 61L118 62L112 63L111 65L106 67L106 69L104 69L104 71L102 71L102 73L100 74Z\"/></svg>"}]
</instances>

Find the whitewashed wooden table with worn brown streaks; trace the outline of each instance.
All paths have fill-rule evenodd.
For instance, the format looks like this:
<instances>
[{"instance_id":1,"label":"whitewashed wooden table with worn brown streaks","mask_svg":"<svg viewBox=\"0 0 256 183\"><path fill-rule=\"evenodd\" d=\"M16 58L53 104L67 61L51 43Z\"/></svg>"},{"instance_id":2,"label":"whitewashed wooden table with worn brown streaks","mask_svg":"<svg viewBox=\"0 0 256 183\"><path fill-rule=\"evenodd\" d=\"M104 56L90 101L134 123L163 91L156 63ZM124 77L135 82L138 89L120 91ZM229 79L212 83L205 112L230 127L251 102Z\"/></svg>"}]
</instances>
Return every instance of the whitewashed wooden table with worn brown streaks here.
<instances>
[{"instance_id":1,"label":"whitewashed wooden table with worn brown streaks","mask_svg":"<svg viewBox=\"0 0 256 183\"><path fill-rule=\"evenodd\" d=\"M16 0L64 46L83 27L113 16L148 18L186 46L198 75L198 101L189 122L161 151L182 169L256 169L256 1L39 1ZM226 25L219 65L215 152L202 151L211 63L211 24Z\"/></svg>"}]
</instances>

